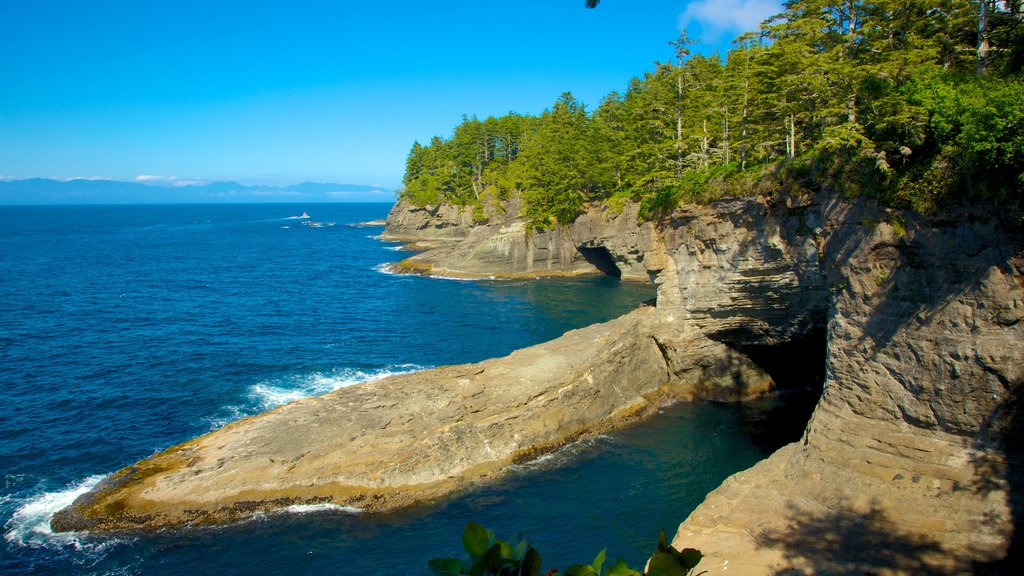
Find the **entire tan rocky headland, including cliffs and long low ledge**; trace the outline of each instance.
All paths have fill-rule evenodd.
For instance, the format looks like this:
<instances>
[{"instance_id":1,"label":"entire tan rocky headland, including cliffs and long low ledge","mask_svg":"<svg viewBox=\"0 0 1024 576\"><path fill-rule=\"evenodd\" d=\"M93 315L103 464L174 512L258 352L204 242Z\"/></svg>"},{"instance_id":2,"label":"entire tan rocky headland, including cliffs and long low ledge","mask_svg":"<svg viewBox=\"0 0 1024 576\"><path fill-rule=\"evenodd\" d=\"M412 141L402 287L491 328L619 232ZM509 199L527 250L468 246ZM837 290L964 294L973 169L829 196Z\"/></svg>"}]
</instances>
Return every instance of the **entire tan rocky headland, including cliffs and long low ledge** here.
<instances>
[{"instance_id":1,"label":"entire tan rocky headland, including cliffs and long low ledge","mask_svg":"<svg viewBox=\"0 0 1024 576\"><path fill-rule=\"evenodd\" d=\"M383 238L425 243L399 271L608 274L656 307L506 358L394 376L231 423L129 466L56 530L230 521L293 503L429 500L678 399L823 386L803 439L727 480L679 545L712 574L994 569L1022 518L1024 232L809 194L683 206L640 222L594 207L531 231L399 202ZM479 215L477 215L479 217ZM681 519L682 520L682 519Z\"/></svg>"}]
</instances>

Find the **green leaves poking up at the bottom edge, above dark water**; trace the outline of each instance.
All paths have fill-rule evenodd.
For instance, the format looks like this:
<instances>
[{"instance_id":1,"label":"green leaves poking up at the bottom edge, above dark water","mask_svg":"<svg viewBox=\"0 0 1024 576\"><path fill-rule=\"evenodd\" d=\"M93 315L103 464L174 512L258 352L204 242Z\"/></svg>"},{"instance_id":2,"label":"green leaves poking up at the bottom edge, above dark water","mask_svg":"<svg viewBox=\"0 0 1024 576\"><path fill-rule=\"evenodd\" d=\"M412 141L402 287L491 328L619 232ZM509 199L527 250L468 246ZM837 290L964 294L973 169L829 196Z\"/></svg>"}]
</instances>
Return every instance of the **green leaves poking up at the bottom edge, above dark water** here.
<instances>
[{"instance_id":1,"label":"green leaves poking up at the bottom edge, above dark water","mask_svg":"<svg viewBox=\"0 0 1024 576\"><path fill-rule=\"evenodd\" d=\"M516 537L512 542L495 538L494 532L475 522L466 525L462 547L469 560L438 558L427 563L434 576L691 576L702 554L694 548L677 550L669 545L662 531L657 549L650 559L649 572L630 568L623 559L604 571L605 552L601 550L589 564L573 564L564 573L558 570L542 572L541 554L529 542ZM701 572L701 574L703 574ZM699 575L698 575L699 576Z\"/></svg>"}]
</instances>

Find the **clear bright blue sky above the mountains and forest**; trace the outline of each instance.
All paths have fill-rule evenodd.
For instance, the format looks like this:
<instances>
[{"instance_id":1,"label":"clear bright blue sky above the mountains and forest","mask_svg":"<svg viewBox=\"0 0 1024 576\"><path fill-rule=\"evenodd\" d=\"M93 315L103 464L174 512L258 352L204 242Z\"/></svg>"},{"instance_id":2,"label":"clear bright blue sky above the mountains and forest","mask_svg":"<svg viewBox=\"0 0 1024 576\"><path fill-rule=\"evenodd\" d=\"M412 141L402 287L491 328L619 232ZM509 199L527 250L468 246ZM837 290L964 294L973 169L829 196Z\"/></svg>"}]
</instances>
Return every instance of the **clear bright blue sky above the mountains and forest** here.
<instances>
[{"instance_id":1,"label":"clear bright blue sky above the mountains and forest","mask_svg":"<svg viewBox=\"0 0 1024 576\"><path fill-rule=\"evenodd\" d=\"M772 0L4 0L0 177L399 184L463 114L595 106Z\"/></svg>"}]
</instances>

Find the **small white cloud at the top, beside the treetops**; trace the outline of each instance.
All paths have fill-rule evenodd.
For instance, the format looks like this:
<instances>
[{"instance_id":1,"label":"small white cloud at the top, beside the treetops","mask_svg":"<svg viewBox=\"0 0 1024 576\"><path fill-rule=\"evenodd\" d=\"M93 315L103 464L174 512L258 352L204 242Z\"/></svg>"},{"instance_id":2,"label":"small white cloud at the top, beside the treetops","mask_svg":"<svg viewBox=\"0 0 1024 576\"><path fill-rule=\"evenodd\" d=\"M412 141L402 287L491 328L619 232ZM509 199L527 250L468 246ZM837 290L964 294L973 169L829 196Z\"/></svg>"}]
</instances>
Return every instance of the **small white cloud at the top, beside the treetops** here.
<instances>
[{"instance_id":1,"label":"small white cloud at the top, beside the treetops","mask_svg":"<svg viewBox=\"0 0 1024 576\"><path fill-rule=\"evenodd\" d=\"M691 33L699 29L702 41L717 42L757 30L780 11L776 0L694 0L679 15L679 26Z\"/></svg>"}]
</instances>

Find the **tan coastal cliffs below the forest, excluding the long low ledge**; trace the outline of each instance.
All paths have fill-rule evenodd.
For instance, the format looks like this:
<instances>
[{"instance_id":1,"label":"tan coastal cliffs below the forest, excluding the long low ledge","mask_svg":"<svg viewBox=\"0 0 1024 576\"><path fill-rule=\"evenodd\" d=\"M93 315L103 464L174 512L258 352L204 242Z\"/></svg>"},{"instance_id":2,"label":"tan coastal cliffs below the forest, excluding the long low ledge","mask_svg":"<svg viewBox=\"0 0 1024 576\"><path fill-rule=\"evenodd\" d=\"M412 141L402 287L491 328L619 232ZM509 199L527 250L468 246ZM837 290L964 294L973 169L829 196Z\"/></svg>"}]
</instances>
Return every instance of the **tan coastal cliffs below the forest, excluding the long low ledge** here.
<instances>
[{"instance_id":1,"label":"tan coastal cliffs below the forest, excluding the long low ledge","mask_svg":"<svg viewBox=\"0 0 1024 576\"><path fill-rule=\"evenodd\" d=\"M803 439L728 479L678 528L674 544L701 549L701 570L969 574L1019 561L1020 214L924 217L783 194L684 205L656 225L629 206L593 207L531 240L506 214L477 223L472 242L427 250L397 271L643 270L658 285L658 311L677 324L776 374L778 363L810 374L820 366L821 398ZM504 269L493 254L505 256Z\"/></svg>"}]
</instances>

